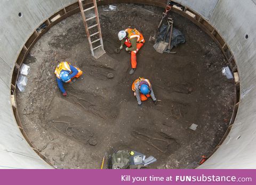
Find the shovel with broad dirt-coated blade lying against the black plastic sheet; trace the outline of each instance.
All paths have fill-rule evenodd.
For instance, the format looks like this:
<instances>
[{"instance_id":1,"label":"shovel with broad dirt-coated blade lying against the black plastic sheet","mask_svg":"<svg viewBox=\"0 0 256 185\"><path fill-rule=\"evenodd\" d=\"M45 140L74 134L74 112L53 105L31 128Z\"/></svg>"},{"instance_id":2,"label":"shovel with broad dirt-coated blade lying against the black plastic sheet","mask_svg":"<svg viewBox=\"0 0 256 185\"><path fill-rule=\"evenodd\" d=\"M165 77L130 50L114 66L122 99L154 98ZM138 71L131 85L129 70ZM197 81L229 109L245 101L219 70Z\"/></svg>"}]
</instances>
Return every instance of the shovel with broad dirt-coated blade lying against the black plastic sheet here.
<instances>
[{"instance_id":1,"label":"shovel with broad dirt-coated blade lying against the black plastic sheet","mask_svg":"<svg viewBox=\"0 0 256 185\"><path fill-rule=\"evenodd\" d=\"M172 33L172 28L173 28L173 20L172 18L168 18L167 19L167 29L166 29L166 33L164 35L164 39L162 41L157 42L153 47L156 49L156 51L158 53L164 53L167 45L170 47L171 45L171 35L170 35L170 39L169 39L169 43L166 42L166 37L168 36L169 30L171 28L171 33Z\"/></svg>"}]
</instances>

